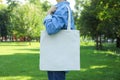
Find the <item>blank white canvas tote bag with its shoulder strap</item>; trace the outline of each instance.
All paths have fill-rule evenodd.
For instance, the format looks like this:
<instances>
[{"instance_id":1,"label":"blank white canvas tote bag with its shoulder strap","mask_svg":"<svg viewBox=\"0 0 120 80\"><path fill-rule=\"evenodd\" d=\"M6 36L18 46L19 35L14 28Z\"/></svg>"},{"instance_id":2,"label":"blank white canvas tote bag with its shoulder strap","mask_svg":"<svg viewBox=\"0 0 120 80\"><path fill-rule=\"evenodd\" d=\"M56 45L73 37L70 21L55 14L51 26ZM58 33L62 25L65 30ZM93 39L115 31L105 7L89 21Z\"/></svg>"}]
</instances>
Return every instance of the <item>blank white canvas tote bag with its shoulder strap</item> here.
<instances>
[{"instance_id":1,"label":"blank white canvas tote bag with its shoulder strap","mask_svg":"<svg viewBox=\"0 0 120 80\"><path fill-rule=\"evenodd\" d=\"M68 8L68 27L56 34L41 32L40 70L68 71L80 70L80 32L70 30L70 10Z\"/></svg>"}]
</instances>

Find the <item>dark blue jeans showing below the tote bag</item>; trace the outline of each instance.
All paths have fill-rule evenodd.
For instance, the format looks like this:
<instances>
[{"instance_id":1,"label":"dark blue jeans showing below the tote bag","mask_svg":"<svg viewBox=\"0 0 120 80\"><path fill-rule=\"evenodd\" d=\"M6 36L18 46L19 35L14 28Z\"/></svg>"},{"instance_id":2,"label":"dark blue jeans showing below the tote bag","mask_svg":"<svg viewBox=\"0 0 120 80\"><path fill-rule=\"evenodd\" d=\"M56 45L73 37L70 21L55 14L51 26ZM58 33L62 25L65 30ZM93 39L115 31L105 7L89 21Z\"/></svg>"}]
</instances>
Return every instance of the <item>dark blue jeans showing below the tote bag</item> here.
<instances>
[{"instance_id":1,"label":"dark blue jeans showing below the tote bag","mask_svg":"<svg viewBox=\"0 0 120 80\"><path fill-rule=\"evenodd\" d=\"M65 71L48 71L48 80L65 80Z\"/></svg>"}]
</instances>

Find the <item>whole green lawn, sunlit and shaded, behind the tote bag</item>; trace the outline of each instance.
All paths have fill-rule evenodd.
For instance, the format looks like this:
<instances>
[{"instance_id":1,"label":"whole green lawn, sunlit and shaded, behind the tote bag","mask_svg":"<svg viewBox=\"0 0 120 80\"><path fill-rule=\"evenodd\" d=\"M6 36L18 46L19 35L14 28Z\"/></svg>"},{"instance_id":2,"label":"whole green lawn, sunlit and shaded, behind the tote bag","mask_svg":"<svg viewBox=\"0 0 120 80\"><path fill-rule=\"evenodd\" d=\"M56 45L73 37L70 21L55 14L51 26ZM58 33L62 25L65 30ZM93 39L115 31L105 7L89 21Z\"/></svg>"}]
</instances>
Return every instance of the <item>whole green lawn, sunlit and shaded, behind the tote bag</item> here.
<instances>
[{"instance_id":1,"label":"whole green lawn, sunlit and shaded, behind the tote bag","mask_svg":"<svg viewBox=\"0 0 120 80\"><path fill-rule=\"evenodd\" d=\"M39 43L0 43L0 80L47 80L39 70ZM120 80L120 56L93 43L81 44L81 70L71 71L66 80Z\"/></svg>"}]
</instances>

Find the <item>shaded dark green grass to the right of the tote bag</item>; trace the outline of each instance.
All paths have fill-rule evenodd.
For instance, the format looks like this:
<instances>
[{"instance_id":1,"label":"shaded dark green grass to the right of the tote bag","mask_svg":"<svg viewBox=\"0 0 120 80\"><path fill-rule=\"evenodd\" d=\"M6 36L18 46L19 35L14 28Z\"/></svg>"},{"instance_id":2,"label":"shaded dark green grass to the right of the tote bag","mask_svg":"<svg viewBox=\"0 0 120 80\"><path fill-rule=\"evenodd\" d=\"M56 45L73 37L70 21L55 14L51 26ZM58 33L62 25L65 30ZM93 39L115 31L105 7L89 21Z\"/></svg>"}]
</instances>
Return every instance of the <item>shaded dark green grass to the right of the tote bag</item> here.
<instances>
[{"instance_id":1,"label":"shaded dark green grass to the right of the tote bag","mask_svg":"<svg viewBox=\"0 0 120 80\"><path fill-rule=\"evenodd\" d=\"M119 56L81 46L81 70L67 74L67 80L120 80L119 66Z\"/></svg>"}]
</instances>

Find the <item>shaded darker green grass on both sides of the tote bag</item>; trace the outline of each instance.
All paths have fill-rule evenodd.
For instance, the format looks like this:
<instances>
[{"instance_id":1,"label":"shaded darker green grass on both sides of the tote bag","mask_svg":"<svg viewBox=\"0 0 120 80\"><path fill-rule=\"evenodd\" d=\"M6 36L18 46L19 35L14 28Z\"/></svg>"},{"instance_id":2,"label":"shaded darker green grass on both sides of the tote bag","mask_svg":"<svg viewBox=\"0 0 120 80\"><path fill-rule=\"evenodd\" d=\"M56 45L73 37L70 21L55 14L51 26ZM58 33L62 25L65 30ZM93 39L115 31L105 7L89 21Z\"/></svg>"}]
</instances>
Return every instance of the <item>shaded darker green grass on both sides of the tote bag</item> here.
<instances>
[{"instance_id":1,"label":"shaded darker green grass on both sides of the tote bag","mask_svg":"<svg viewBox=\"0 0 120 80\"><path fill-rule=\"evenodd\" d=\"M25 50L39 51L39 49ZM93 46L81 46L81 70L70 71L67 80L120 80L119 66L119 56L96 51ZM39 70L39 53L1 55L0 77L15 76L31 77L29 80L47 80L46 72Z\"/></svg>"}]
</instances>

